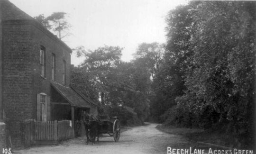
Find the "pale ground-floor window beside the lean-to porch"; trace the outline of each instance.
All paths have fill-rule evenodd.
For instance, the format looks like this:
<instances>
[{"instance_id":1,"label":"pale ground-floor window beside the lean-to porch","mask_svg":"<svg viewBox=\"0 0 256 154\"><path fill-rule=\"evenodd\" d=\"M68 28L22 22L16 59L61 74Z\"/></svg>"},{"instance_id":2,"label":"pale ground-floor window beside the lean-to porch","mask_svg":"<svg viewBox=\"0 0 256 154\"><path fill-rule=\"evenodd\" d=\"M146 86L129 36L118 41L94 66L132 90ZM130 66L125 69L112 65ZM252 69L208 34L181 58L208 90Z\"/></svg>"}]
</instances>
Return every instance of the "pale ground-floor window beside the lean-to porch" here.
<instances>
[{"instance_id":1,"label":"pale ground-floor window beside the lean-to porch","mask_svg":"<svg viewBox=\"0 0 256 154\"><path fill-rule=\"evenodd\" d=\"M50 97L45 93L37 94L37 120L47 121L50 118Z\"/></svg>"}]
</instances>

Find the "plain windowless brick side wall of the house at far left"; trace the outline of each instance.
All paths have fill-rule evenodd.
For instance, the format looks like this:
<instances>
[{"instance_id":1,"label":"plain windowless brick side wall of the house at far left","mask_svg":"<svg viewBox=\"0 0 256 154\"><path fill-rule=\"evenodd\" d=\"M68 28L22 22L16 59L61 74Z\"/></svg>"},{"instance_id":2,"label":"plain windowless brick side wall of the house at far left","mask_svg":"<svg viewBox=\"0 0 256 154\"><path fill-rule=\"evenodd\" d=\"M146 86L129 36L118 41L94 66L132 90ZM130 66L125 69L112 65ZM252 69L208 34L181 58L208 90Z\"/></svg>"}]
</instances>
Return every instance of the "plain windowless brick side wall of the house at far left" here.
<instances>
[{"instance_id":1,"label":"plain windowless brick side wall of the house at far left","mask_svg":"<svg viewBox=\"0 0 256 154\"><path fill-rule=\"evenodd\" d=\"M31 118L30 26L3 24L3 109L13 144L20 144L20 121Z\"/></svg>"}]
</instances>

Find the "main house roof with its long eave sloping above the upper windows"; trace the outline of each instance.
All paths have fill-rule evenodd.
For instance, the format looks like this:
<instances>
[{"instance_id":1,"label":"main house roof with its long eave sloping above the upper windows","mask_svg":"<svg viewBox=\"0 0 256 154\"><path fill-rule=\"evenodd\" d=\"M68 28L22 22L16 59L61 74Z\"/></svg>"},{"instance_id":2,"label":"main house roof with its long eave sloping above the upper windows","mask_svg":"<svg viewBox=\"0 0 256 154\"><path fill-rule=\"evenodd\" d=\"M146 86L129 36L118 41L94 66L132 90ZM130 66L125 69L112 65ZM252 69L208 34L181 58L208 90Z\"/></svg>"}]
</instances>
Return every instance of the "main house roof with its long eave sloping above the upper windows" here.
<instances>
[{"instance_id":1,"label":"main house roof with its long eave sloping above the upper windows","mask_svg":"<svg viewBox=\"0 0 256 154\"><path fill-rule=\"evenodd\" d=\"M46 35L53 38L55 41L68 49L70 53L72 53L72 49L68 45L52 34L48 29L43 27L36 19L32 18L27 13L12 4L9 0L0 0L0 18L2 21L30 21L37 28L41 29Z\"/></svg>"}]
</instances>

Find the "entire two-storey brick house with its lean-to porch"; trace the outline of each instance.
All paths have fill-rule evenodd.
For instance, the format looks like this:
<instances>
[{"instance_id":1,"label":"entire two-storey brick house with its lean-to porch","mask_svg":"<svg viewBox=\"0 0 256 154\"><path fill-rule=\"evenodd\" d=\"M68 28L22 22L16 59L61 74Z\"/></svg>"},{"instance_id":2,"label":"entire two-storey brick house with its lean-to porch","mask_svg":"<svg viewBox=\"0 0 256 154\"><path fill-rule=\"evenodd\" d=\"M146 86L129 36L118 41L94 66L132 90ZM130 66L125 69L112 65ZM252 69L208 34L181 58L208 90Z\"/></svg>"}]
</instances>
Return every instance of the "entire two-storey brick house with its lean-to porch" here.
<instances>
[{"instance_id":1,"label":"entire two-storey brick house with its lean-to porch","mask_svg":"<svg viewBox=\"0 0 256 154\"><path fill-rule=\"evenodd\" d=\"M9 0L0 0L0 109L13 145L20 122L97 115L97 104L70 82L72 50Z\"/></svg>"}]
</instances>

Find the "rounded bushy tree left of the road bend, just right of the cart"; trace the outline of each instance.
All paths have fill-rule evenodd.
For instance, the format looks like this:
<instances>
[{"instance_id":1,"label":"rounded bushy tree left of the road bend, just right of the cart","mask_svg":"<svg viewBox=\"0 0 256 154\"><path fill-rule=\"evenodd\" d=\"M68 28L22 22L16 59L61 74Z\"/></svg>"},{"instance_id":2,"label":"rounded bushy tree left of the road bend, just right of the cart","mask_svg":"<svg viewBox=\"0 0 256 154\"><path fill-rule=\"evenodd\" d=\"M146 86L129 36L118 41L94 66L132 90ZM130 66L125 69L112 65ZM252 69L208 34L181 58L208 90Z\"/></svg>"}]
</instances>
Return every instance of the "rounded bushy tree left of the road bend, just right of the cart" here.
<instances>
[{"instance_id":1,"label":"rounded bushy tree left of the road bend, just right of the cart","mask_svg":"<svg viewBox=\"0 0 256 154\"><path fill-rule=\"evenodd\" d=\"M137 63L120 63L117 72L121 105L134 109L143 123L149 115L150 73Z\"/></svg>"}]
</instances>

